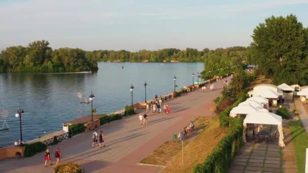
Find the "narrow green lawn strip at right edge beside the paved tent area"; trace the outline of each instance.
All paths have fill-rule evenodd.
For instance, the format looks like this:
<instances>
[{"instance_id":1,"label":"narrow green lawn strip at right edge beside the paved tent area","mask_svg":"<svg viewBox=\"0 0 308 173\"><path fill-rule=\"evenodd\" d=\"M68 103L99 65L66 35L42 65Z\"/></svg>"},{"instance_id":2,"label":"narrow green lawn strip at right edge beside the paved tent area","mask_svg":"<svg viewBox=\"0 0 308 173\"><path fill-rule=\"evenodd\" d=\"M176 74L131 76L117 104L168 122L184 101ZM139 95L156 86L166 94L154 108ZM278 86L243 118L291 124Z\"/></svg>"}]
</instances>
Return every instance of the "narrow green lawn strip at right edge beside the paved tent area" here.
<instances>
[{"instance_id":1,"label":"narrow green lawn strip at right edge beside the paved tent area","mask_svg":"<svg viewBox=\"0 0 308 173\"><path fill-rule=\"evenodd\" d=\"M292 143L294 145L296 165L298 172L305 172L306 148L308 148L308 136L301 121L290 121L292 129Z\"/></svg>"}]
</instances>

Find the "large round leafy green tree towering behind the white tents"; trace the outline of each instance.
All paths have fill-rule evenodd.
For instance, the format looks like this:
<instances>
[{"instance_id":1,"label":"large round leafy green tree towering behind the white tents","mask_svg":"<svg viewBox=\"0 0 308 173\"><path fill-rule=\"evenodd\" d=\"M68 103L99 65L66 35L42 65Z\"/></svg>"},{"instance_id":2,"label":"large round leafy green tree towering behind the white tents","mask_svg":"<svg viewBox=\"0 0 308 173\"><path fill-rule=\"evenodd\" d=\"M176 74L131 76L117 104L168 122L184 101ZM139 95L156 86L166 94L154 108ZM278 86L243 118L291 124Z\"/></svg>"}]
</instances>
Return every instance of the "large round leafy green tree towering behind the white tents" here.
<instances>
[{"instance_id":1,"label":"large round leafy green tree towering behind the white tents","mask_svg":"<svg viewBox=\"0 0 308 173\"><path fill-rule=\"evenodd\" d=\"M265 19L252 38L252 61L275 84L307 84L307 33L295 15Z\"/></svg>"}]
</instances>

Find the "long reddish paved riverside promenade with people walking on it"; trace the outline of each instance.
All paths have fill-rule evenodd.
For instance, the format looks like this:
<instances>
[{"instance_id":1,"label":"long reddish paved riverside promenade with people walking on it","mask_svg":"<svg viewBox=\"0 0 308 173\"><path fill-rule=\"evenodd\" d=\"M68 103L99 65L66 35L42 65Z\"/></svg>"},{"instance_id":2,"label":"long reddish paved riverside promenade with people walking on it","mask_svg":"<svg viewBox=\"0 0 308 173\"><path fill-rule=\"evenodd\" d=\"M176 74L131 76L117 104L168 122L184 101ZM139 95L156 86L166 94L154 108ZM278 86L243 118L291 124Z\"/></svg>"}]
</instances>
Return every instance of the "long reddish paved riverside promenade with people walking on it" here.
<instances>
[{"instance_id":1,"label":"long reddish paved riverside promenade with people walking on it","mask_svg":"<svg viewBox=\"0 0 308 173\"><path fill-rule=\"evenodd\" d=\"M230 80L230 77L227 78ZM54 151L60 148L62 162L77 162L86 172L157 172L160 167L138 165L137 162L172 139L198 116L214 116L208 109L213 99L220 95L223 81L214 83L214 90L202 93L201 90L167 102L171 114L152 114L148 116L147 126L139 125L138 115L124 117L100 126L105 135L104 148L91 148L92 132L87 132L50 146L54 160ZM0 160L0 172L53 172L52 166L44 167L44 152L23 159Z\"/></svg>"}]
</instances>

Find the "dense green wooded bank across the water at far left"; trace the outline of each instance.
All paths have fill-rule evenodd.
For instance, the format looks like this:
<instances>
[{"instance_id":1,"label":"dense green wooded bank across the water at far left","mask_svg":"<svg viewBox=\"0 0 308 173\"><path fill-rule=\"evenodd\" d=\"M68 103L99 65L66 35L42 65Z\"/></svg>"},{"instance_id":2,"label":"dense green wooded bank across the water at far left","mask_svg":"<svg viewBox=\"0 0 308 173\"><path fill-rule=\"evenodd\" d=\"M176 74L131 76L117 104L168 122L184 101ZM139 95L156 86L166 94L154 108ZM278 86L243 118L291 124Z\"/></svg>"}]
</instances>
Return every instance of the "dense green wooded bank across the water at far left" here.
<instances>
[{"instance_id":1,"label":"dense green wooded bank across the water at far left","mask_svg":"<svg viewBox=\"0 0 308 173\"><path fill-rule=\"evenodd\" d=\"M98 70L97 61L86 57L86 51L71 48L52 50L45 40L31 42L27 47L8 47L0 54L0 73L90 70Z\"/></svg>"}]
</instances>

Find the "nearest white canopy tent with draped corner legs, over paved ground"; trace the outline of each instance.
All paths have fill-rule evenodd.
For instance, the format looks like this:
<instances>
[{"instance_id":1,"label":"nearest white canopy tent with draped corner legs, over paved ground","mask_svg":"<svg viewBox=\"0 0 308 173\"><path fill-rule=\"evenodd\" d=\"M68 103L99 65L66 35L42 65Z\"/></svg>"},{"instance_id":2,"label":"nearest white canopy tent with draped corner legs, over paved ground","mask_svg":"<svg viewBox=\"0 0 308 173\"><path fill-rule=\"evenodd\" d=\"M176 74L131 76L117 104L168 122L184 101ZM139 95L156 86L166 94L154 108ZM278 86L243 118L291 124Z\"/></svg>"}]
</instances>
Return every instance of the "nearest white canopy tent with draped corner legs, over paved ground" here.
<instances>
[{"instance_id":1,"label":"nearest white canopy tent with draped corner legs, over paved ground","mask_svg":"<svg viewBox=\"0 0 308 173\"><path fill-rule=\"evenodd\" d=\"M276 115L274 113L268 112L268 111L258 111L251 114L246 115L246 118L244 119L244 131L243 131L243 141L246 142L245 137L245 131L247 128L247 123L253 123L253 124L272 124L278 126L278 132L279 132L279 143L278 145L280 147L285 147L285 144L283 142L284 136L282 131L282 118L279 115Z\"/></svg>"}]
</instances>

